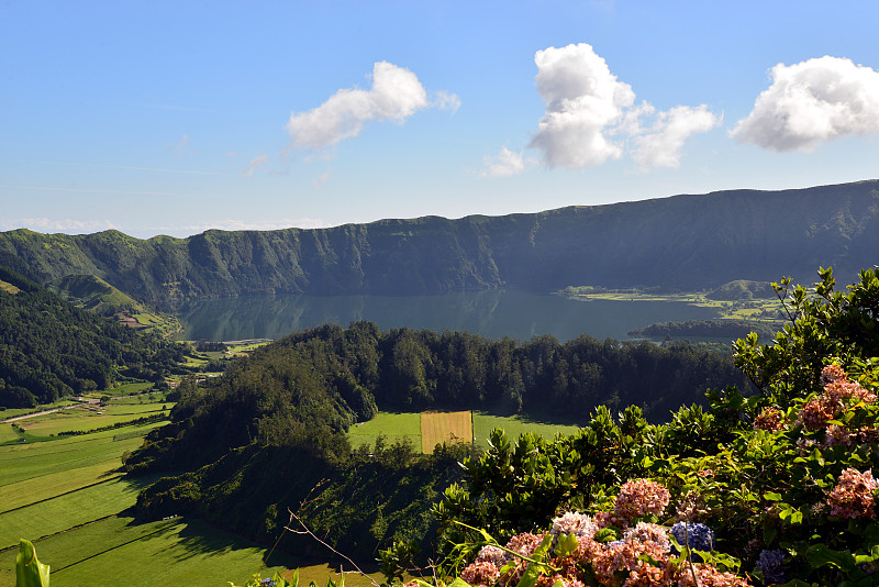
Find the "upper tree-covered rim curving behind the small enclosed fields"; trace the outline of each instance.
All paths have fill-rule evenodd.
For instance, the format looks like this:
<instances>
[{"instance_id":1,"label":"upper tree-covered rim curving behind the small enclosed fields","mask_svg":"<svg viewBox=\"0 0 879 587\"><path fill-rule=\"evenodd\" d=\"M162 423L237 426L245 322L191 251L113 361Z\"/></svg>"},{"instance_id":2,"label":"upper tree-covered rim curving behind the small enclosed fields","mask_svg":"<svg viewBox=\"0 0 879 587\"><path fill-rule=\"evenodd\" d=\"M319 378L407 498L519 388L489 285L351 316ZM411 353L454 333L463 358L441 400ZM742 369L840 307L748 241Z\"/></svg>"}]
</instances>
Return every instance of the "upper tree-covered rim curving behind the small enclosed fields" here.
<instances>
[{"instance_id":1,"label":"upper tree-covered rim curving behind the small enclosed fields","mask_svg":"<svg viewBox=\"0 0 879 587\"><path fill-rule=\"evenodd\" d=\"M686 343L587 335L521 343L467 332L380 331L369 322L326 324L257 348L204 389L182 386L173 425L154 433L174 440L156 453L157 441L143 456L178 466L182 455L198 455L204 464L252 440L333 453L337 436L378 407L500 409L576 421L599 405L638 405L661 421L705 389L731 383L748 385L731 357Z\"/></svg>"}]
</instances>

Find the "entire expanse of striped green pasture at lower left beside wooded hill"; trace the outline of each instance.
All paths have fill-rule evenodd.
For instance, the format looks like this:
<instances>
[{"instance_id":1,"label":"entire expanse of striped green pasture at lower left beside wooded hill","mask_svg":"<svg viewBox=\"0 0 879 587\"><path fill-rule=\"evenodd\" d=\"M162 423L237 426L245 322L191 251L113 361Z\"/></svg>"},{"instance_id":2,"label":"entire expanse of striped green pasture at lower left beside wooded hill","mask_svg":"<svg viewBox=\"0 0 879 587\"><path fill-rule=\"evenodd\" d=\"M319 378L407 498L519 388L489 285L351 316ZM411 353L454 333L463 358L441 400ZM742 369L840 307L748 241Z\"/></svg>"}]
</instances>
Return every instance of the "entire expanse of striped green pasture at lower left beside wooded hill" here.
<instances>
[{"instance_id":1,"label":"entire expanse of striped green pasture at lower left beside wooded hill","mask_svg":"<svg viewBox=\"0 0 879 587\"><path fill-rule=\"evenodd\" d=\"M132 419L160 407L116 405L108 417ZM418 414L413 417L418 422ZM40 419L56 422L35 427L41 433L57 428L57 422L77 421L68 414ZM78 420L86 428L97 422L88 414ZM197 520L137 524L119 516L156 479L122 477L121 456L140 446L143 435L157 425L162 423L0 446L0 587L15 585L15 554L22 538L35 541L41 562L52 566L53 587L226 585L229 580L243 585L257 572L266 577L297 567L305 584L326 584L333 574L326 563L277 553L267 566L265 547ZM0 438L18 436L10 424L2 430ZM286 576L291 573L287 571ZM351 587L368 584L348 574L345 583Z\"/></svg>"}]
</instances>

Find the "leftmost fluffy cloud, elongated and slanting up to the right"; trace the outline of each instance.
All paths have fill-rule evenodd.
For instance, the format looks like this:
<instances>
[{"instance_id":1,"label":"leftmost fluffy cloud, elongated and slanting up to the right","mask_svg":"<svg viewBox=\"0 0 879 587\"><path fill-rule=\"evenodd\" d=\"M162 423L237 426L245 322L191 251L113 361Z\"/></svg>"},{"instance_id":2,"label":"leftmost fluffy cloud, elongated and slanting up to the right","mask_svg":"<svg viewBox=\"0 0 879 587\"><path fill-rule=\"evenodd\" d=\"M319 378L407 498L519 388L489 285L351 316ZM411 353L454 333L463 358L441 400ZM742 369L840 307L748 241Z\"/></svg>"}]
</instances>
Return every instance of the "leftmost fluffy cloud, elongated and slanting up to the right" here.
<instances>
[{"instance_id":1,"label":"leftmost fluffy cloud, elongated and slanting up to the right","mask_svg":"<svg viewBox=\"0 0 879 587\"><path fill-rule=\"evenodd\" d=\"M292 146L320 149L357 136L369 121L402 122L419 110L456 110L459 104L455 95L437 92L429 97L415 74L379 62L372 67L370 89L342 89L318 108L293 112L287 131Z\"/></svg>"}]
</instances>

